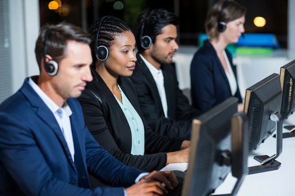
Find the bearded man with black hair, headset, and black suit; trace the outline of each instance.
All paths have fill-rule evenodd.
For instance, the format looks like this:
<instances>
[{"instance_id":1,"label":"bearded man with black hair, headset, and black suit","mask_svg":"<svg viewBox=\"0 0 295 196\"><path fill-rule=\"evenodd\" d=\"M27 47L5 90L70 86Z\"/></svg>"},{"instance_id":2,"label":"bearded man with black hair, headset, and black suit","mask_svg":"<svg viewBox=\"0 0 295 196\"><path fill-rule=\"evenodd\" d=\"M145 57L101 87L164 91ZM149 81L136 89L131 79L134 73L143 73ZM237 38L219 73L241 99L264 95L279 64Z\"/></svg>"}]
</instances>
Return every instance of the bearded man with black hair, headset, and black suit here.
<instances>
[{"instance_id":1,"label":"bearded man with black hair, headset, and black suit","mask_svg":"<svg viewBox=\"0 0 295 196\"><path fill-rule=\"evenodd\" d=\"M160 135L190 139L192 120L200 114L178 88L172 57L178 45L178 17L165 9L146 9L138 18L135 84L144 117Z\"/></svg>"}]
</instances>

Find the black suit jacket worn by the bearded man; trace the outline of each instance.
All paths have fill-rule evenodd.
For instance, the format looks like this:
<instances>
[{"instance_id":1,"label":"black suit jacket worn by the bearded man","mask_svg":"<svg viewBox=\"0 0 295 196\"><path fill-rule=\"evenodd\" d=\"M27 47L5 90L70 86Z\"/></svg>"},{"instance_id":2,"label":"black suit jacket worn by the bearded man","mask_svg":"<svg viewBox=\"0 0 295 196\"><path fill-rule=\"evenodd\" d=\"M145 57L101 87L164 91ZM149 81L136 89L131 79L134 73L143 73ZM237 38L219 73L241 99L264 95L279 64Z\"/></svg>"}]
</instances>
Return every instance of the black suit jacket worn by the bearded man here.
<instances>
[{"instance_id":1,"label":"black suit jacket worn by the bearded man","mask_svg":"<svg viewBox=\"0 0 295 196\"><path fill-rule=\"evenodd\" d=\"M139 55L137 59L130 79L136 87L138 100L149 126L159 135L189 140L192 120L201 113L189 104L178 88L175 68L171 64L161 66L168 107L166 118L155 80Z\"/></svg>"}]
</instances>

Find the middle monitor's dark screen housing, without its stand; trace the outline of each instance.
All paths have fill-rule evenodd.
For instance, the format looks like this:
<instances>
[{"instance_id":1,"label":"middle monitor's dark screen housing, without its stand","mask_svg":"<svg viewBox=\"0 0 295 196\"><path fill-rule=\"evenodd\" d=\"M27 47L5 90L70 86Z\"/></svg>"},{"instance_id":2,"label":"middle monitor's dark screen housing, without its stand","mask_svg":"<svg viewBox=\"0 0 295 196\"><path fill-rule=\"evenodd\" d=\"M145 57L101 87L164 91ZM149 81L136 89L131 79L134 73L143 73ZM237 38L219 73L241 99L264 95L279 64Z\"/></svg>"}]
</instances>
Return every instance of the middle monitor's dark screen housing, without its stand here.
<instances>
[{"instance_id":1,"label":"middle monitor's dark screen housing, without its stand","mask_svg":"<svg viewBox=\"0 0 295 196\"><path fill-rule=\"evenodd\" d=\"M265 142L276 129L270 114L280 111L280 76L273 73L246 90L244 112L249 121L249 153Z\"/></svg>"}]
</instances>

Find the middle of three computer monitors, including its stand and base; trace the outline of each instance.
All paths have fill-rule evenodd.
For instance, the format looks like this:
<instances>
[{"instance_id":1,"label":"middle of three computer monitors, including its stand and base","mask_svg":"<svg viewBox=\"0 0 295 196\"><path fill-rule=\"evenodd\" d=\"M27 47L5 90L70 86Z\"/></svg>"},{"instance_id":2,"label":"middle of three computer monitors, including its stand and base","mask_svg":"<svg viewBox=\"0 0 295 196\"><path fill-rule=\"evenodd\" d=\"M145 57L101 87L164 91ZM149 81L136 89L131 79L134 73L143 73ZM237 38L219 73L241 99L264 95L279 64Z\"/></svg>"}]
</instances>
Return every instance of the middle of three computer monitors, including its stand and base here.
<instances>
[{"instance_id":1,"label":"middle of three computer monitors, including its stand and base","mask_svg":"<svg viewBox=\"0 0 295 196\"><path fill-rule=\"evenodd\" d=\"M273 73L249 87L246 90L244 112L249 121L249 149L251 153L277 130L277 151L269 157L267 155L255 156L261 162L260 166L249 168L249 174L278 170L281 163L275 159L282 152L282 123L280 115L281 84L279 74Z\"/></svg>"}]
</instances>

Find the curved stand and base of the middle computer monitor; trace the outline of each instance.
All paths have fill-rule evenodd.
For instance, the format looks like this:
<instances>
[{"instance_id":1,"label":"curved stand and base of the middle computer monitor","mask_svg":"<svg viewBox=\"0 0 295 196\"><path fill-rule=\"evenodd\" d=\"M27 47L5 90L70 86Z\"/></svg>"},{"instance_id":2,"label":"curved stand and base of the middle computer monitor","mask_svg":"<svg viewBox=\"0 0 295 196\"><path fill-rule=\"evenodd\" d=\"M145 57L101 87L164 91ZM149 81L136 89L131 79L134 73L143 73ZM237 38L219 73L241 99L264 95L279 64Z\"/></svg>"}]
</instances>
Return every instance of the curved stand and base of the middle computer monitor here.
<instances>
[{"instance_id":1,"label":"curved stand and base of the middle computer monitor","mask_svg":"<svg viewBox=\"0 0 295 196\"><path fill-rule=\"evenodd\" d=\"M258 166L249 167L248 175L274 171L278 170L281 167L281 163L276 161L275 159L280 156L283 149L283 118L279 112L272 112L270 114L270 120L276 122L276 131L278 135L278 137L276 137L276 154L272 155L271 157L267 155L255 156L254 159L259 161L261 164Z\"/></svg>"}]
</instances>

